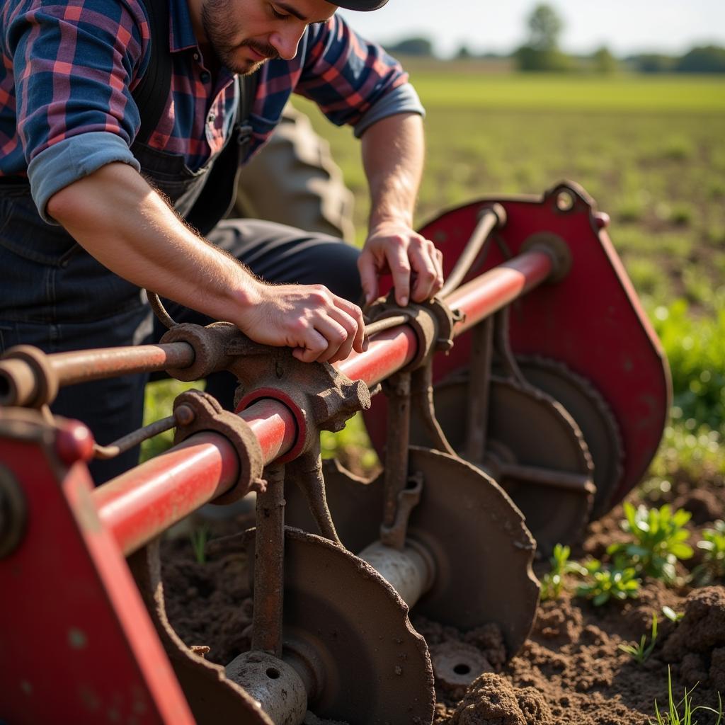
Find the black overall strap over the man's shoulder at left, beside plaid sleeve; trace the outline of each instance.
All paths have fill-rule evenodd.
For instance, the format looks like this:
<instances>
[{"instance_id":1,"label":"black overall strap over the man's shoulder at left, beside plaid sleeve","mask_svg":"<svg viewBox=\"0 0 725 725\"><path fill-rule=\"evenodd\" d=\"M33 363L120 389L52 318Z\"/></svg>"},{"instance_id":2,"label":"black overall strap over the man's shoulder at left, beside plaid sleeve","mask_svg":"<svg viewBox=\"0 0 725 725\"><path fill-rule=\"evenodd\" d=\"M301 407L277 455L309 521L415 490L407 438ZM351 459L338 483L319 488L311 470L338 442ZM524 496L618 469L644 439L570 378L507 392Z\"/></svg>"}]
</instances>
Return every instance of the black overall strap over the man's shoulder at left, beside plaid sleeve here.
<instances>
[{"instance_id":1,"label":"black overall strap over the man's shoulder at left, beside plaid sleeve","mask_svg":"<svg viewBox=\"0 0 725 725\"><path fill-rule=\"evenodd\" d=\"M151 57L144 77L133 89L133 99L141 114L136 141L146 144L159 123L171 88L171 51L169 48L168 0L141 0L149 17Z\"/></svg>"}]
</instances>

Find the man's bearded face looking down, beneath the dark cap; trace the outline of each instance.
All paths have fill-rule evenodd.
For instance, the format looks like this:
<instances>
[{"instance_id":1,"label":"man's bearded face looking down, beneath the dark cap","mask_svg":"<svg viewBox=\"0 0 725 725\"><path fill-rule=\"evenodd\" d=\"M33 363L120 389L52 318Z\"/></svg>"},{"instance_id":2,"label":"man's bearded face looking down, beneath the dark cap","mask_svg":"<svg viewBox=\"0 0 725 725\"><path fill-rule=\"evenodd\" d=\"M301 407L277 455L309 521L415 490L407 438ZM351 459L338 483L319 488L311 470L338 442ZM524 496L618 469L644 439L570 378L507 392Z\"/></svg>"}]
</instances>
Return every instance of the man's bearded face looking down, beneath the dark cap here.
<instances>
[{"instance_id":1,"label":"man's bearded face looking down, beneath the dark cap","mask_svg":"<svg viewBox=\"0 0 725 725\"><path fill-rule=\"evenodd\" d=\"M326 22L326 0L201 0L204 36L220 62L246 75L266 60L291 60L307 25ZM203 42L203 38L199 38Z\"/></svg>"}]
</instances>

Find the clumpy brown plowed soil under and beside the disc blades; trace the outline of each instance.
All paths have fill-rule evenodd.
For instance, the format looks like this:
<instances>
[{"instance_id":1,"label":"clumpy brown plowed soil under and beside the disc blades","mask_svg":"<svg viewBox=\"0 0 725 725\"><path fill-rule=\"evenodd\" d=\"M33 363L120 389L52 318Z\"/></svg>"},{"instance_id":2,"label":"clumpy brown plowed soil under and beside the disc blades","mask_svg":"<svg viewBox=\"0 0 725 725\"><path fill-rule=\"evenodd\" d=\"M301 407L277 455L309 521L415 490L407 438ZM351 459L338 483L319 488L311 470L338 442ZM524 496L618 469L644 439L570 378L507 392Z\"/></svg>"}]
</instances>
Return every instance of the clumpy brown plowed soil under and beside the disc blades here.
<instances>
[{"instance_id":1,"label":"clumpy brown plowed soil under and beside the disc blades","mask_svg":"<svg viewBox=\"0 0 725 725\"><path fill-rule=\"evenodd\" d=\"M725 512L721 484L680 489L675 504L692 511L694 544L700 531ZM575 554L600 555L621 536L617 507L593 523ZM253 513L236 521L215 523L213 536L253 525ZM247 558L241 548L207 544L207 561L197 563L188 537L164 544L164 581L171 624L187 645L207 645L207 659L226 664L249 647L252 600ZM692 568L697 558L689 561ZM547 570L538 565L537 573ZM682 568L682 575L687 570ZM468 687L436 687L434 722L450 725L647 725L655 715L655 700L666 710L668 668L676 700L684 688L695 688L695 705L717 707L725 700L725 586L668 588L648 580L639 600L595 608L566 594L539 605L534 631L513 659L495 627L461 632L415 617L411 621L432 651L463 642L475 647L485 673ZM676 624L662 614L663 606L684 613ZM659 633L650 658L637 664L618 648L650 634L653 613ZM716 722L698 711L700 725ZM310 716L310 723L320 723ZM694 721L693 721L694 722ZM362 724L365 725L365 724ZM397 725L397 724L396 724Z\"/></svg>"}]
</instances>

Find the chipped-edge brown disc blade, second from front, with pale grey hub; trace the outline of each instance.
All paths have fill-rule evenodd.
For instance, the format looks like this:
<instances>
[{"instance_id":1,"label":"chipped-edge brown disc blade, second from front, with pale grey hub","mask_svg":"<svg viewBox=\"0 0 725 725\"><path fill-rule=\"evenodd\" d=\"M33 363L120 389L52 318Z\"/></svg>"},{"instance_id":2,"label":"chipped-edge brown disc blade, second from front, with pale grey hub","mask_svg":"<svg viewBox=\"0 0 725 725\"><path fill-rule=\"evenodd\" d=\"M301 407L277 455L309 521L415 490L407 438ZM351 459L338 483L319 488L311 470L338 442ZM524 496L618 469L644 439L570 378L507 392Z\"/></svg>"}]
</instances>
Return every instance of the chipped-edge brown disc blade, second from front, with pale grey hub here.
<instances>
[{"instance_id":1,"label":"chipped-edge brown disc blade, second from front, with pale grey hub","mask_svg":"<svg viewBox=\"0 0 725 725\"><path fill-rule=\"evenodd\" d=\"M539 586L531 571L534 541L523 517L495 481L457 457L410 448L410 471L423 476L421 500L410 513L407 541L434 562L432 587L415 613L473 629L493 622L509 656L529 635ZM383 476L368 484L326 461L328 505L342 542L352 551L378 539ZM314 528L305 501L286 489L287 521Z\"/></svg>"}]
</instances>

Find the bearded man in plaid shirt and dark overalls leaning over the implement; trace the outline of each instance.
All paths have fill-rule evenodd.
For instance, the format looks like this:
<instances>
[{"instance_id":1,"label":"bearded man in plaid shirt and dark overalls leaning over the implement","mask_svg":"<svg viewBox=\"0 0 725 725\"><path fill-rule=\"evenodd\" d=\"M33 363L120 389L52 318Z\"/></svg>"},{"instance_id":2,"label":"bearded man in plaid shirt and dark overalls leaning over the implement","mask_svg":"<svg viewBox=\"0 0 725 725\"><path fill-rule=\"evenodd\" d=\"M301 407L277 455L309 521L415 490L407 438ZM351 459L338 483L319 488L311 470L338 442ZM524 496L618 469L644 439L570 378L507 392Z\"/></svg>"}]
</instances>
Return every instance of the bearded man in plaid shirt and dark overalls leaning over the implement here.
<instances>
[{"instance_id":1,"label":"bearded man in plaid shirt and dark overalls leaning over the implement","mask_svg":"<svg viewBox=\"0 0 725 725\"><path fill-rule=\"evenodd\" d=\"M178 321L228 320L300 360L334 362L363 349L355 302L376 297L380 273L401 305L434 295L440 253L411 229L423 109L397 62L335 15L385 2L2 3L0 349L154 341L146 288L176 303ZM239 163L292 91L361 138L362 253L223 220ZM207 390L228 405L231 376L212 377ZM141 424L146 379L62 389L53 410L107 444ZM91 471L99 482L135 462L130 452Z\"/></svg>"}]
</instances>

